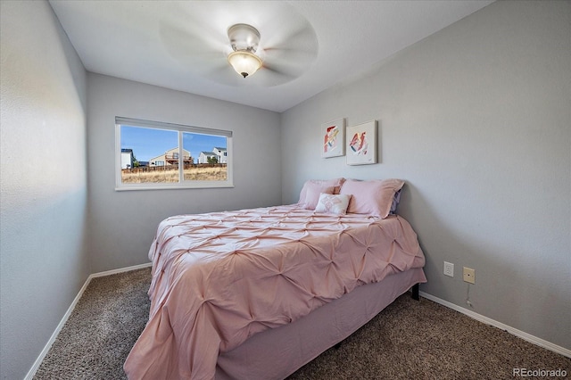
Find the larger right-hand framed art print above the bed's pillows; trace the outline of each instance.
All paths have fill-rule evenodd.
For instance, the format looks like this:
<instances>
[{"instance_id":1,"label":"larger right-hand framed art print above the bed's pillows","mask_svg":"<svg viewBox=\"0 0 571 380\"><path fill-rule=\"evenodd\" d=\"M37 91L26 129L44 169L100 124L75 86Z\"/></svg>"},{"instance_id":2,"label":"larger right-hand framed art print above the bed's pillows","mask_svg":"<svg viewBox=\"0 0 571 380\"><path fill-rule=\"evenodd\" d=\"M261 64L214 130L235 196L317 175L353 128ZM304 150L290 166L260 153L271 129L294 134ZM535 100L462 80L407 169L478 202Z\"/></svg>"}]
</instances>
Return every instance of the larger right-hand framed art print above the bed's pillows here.
<instances>
[{"instance_id":1,"label":"larger right-hand framed art print above the bed's pillows","mask_svg":"<svg viewBox=\"0 0 571 380\"><path fill-rule=\"evenodd\" d=\"M347 165L377 163L377 120L347 127Z\"/></svg>"}]
</instances>

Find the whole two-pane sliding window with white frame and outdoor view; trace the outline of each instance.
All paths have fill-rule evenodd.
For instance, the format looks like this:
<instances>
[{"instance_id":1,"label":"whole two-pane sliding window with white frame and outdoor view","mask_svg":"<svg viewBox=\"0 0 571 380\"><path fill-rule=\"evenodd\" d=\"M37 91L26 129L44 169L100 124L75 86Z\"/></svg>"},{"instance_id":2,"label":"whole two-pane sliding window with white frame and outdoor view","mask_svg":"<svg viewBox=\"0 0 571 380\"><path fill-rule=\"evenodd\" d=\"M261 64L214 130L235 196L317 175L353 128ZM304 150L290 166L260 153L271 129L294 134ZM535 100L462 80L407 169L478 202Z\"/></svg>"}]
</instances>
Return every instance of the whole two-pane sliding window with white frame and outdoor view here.
<instances>
[{"instance_id":1,"label":"whole two-pane sliding window with white frame and outdoor view","mask_svg":"<svg viewBox=\"0 0 571 380\"><path fill-rule=\"evenodd\" d=\"M117 117L115 145L117 190L233 186L232 131Z\"/></svg>"}]
</instances>

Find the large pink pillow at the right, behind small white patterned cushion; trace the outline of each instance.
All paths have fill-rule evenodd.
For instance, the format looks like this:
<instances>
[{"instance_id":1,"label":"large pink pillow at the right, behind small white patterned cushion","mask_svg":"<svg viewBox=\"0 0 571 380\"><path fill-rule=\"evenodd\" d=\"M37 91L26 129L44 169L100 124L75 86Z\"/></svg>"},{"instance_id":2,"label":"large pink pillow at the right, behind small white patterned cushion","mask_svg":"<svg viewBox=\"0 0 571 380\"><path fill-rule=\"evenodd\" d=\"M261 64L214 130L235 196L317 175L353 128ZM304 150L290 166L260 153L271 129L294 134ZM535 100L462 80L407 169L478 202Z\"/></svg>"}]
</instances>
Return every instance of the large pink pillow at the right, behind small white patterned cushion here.
<instances>
[{"instance_id":1,"label":"large pink pillow at the right, behind small white patterned cushion","mask_svg":"<svg viewBox=\"0 0 571 380\"><path fill-rule=\"evenodd\" d=\"M403 185L404 181L401 179L347 179L341 186L340 194L352 194L347 212L385 219L391 211L394 194L401 190Z\"/></svg>"}]
</instances>

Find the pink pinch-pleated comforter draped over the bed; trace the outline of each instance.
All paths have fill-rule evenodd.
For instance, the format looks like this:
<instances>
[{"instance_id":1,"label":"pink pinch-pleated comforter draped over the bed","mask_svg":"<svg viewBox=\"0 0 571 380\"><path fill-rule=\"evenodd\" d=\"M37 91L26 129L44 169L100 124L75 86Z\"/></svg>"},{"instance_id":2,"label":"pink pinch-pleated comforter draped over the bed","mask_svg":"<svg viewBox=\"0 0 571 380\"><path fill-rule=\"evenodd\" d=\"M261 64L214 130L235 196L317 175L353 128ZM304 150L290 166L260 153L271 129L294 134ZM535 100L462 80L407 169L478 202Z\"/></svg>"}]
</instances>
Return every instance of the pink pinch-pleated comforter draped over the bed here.
<instances>
[{"instance_id":1,"label":"pink pinch-pleated comforter draped over the bed","mask_svg":"<svg viewBox=\"0 0 571 380\"><path fill-rule=\"evenodd\" d=\"M401 217L296 205L165 219L149 258L151 312L124 365L130 379L210 380L219 351L425 263Z\"/></svg>"}]
</instances>

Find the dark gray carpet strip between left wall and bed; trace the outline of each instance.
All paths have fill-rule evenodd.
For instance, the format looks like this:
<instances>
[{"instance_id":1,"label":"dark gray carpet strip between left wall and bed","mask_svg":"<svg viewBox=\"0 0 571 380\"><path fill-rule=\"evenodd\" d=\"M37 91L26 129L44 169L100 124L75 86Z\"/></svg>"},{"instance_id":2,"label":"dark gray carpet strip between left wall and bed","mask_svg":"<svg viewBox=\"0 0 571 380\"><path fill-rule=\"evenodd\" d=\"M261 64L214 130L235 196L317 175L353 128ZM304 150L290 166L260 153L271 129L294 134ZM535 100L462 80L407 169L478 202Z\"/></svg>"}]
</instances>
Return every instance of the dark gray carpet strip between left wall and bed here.
<instances>
[{"instance_id":1,"label":"dark gray carpet strip between left wall and bed","mask_svg":"<svg viewBox=\"0 0 571 380\"><path fill-rule=\"evenodd\" d=\"M151 269L95 277L34 379L126 379L123 362L149 318Z\"/></svg>"}]
</instances>

